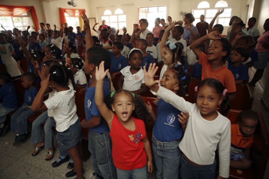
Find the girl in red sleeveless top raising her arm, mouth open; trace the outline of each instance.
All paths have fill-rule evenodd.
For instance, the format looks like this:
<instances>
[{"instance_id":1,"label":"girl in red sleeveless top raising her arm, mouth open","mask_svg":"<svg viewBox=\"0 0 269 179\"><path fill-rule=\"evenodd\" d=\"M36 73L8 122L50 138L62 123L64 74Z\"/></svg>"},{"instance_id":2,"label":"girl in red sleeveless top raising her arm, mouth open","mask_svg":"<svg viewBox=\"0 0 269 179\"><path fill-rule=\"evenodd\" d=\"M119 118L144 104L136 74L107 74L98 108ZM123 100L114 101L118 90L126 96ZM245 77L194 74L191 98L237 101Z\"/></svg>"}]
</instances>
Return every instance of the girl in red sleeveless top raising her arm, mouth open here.
<instances>
[{"instance_id":1,"label":"girl in red sleeveless top raising her arm, mouth open","mask_svg":"<svg viewBox=\"0 0 269 179\"><path fill-rule=\"evenodd\" d=\"M117 177L147 178L147 169L151 173L153 165L150 142L143 120L146 120L149 114L141 97L139 100L139 96L125 90L111 93L109 109L104 103L102 92L107 72L108 70L104 71L104 62L101 62L99 69L96 68L95 103L110 129L112 157L117 168ZM143 120L132 117L133 112Z\"/></svg>"}]
</instances>

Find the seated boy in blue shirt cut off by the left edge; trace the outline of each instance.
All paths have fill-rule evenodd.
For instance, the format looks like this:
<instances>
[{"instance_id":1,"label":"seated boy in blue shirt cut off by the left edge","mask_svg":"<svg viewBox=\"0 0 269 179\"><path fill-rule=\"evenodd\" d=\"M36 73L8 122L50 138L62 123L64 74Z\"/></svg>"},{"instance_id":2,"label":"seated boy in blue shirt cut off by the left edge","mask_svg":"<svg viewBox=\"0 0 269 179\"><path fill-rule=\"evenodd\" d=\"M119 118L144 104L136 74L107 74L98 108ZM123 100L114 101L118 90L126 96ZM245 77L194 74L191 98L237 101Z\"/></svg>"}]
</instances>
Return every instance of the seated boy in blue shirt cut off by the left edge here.
<instances>
[{"instance_id":1,"label":"seated boy in blue shirt cut off by the left edge","mask_svg":"<svg viewBox=\"0 0 269 179\"><path fill-rule=\"evenodd\" d=\"M18 108L18 99L15 87L10 81L11 76L8 72L0 72L0 136L8 132L8 126L5 124L7 114Z\"/></svg>"}]
</instances>

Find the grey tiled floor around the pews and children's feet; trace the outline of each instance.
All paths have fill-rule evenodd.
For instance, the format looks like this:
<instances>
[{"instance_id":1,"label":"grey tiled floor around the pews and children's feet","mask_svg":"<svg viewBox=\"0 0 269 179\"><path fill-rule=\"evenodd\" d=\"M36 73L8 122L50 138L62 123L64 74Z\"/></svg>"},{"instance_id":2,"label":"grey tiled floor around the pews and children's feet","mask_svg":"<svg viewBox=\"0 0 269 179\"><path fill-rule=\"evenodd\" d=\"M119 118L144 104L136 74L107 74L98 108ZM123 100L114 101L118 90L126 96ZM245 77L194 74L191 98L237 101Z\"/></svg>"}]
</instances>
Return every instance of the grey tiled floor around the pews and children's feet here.
<instances>
[{"instance_id":1,"label":"grey tiled floor around the pews and children's feet","mask_svg":"<svg viewBox=\"0 0 269 179\"><path fill-rule=\"evenodd\" d=\"M254 94L253 110L261 111L266 121L266 126L269 129L269 112L264 109L261 104L261 96L263 90L259 85L252 89ZM0 138L0 178L2 179L15 179L15 178L65 178L65 173L69 171L67 169L67 163L62 164L57 168L51 167L51 163L59 156L59 151L56 150L54 160L45 161L46 150L40 151L38 156L31 156L34 145L30 143L28 139L25 143L21 143L18 146L13 146L15 134L8 132L5 137ZM269 152L269 151L268 151ZM93 177L93 168L90 164L90 160L83 163L84 176L87 179ZM75 177L73 177L75 178ZM148 178L156 178L156 170L152 174L148 175ZM269 178L269 162L267 164L264 179Z\"/></svg>"}]
</instances>

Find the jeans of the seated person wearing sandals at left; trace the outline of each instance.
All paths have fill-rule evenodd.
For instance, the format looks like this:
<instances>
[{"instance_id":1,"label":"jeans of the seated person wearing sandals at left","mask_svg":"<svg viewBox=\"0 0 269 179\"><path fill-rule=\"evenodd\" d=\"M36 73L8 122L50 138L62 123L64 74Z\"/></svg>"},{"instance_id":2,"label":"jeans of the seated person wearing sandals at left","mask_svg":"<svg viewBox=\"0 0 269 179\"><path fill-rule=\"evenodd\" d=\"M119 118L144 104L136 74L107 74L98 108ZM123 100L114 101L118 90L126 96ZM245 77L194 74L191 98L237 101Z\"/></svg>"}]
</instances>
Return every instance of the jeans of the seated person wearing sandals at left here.
<instances>
[{"instance_id":1,"label":"jeans of the seated person wearing sandals at left","mask_svg":"<svg viewBox=\"0 0 269 179\"><path fill-rule=\"evenodd\" d=\"M52 119L50 119L52 118ZM45 148L52 147L52 127L55 125L55 121L53 117L48 117L48 112L43 112L40 116L38 116L34 122L32 123L32 134L31 134L31 143L39 143L42 142L41 136L41 125L45 123L44 132L45 132Z\"/></svg>"}]
</instances>

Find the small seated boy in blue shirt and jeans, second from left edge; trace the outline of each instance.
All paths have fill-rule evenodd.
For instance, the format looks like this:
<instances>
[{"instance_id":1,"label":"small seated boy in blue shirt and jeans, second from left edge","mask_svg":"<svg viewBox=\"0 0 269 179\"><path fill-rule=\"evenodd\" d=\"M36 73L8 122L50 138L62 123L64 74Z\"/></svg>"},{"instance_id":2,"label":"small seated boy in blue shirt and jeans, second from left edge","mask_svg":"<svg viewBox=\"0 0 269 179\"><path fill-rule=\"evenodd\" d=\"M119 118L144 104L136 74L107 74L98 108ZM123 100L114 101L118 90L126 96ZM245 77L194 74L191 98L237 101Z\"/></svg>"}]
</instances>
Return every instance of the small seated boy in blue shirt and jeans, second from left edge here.
<instances>
[{"instance_id":1,"label":"small seated boy in blue shirt and jeans, second from left edge","mask_svg":"<svg viewBox=\"0 0 269 179\"><path fill-rule=\"evenodd\" d=\"M11 116L11 132L16 132L16 138L13 145L25 141L30 132L27 131L27 117L35 112L31 110L32 103L38 90L35 85L36 75L34 73L24 73L21 76L21 84L25 88L23 105Z\"/></svg>"}]
</instances>

